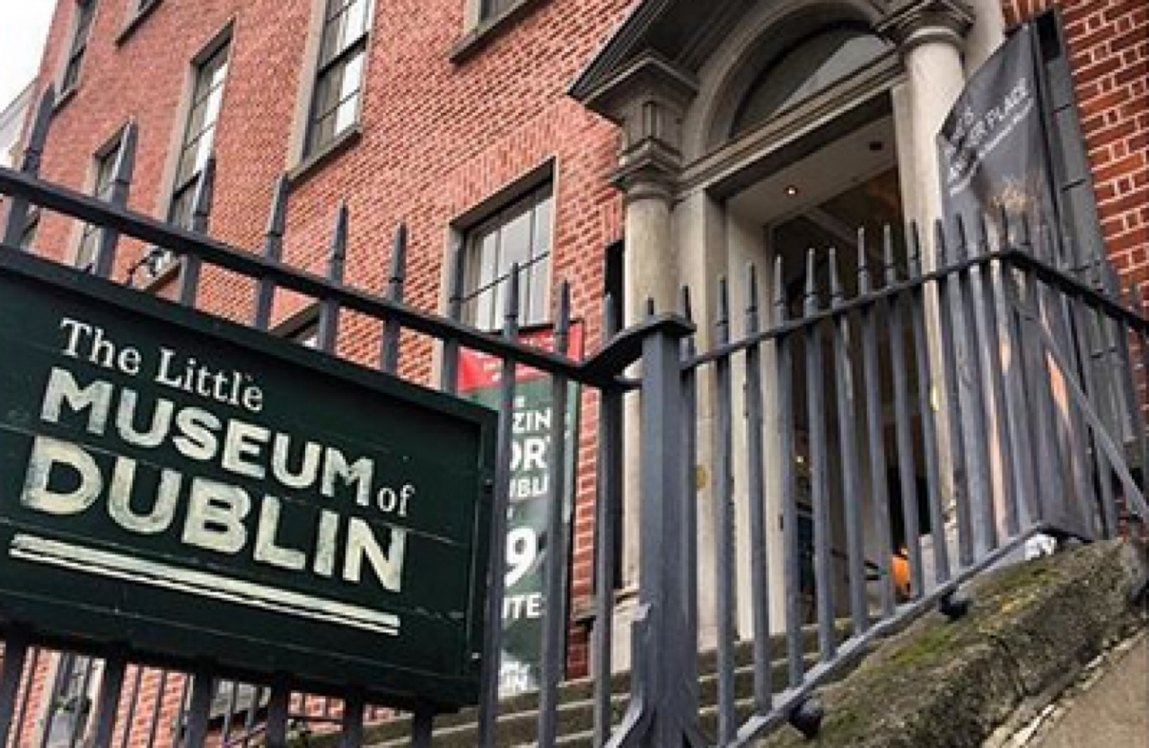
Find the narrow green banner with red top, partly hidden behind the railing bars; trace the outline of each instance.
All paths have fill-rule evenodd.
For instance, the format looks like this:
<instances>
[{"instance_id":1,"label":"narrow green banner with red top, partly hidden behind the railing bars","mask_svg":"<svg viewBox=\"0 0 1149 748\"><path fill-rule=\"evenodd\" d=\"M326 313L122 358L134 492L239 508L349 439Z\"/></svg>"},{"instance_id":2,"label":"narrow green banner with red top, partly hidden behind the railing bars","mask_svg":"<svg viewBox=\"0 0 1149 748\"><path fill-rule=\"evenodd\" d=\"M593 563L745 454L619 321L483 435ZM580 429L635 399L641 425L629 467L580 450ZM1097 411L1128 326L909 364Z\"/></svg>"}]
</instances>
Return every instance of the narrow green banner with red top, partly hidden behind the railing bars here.
<instances>
[{"instance_id":1,"label":"narrow green banner with red top, partly hidden behind the railing bars","mask_svg":"<svg viewBox=\"0 0 1149 748\"><path fill-rule=\"evenodd\" d=\"M571 329L572 350L583 354L583 327ZM554 332L525 330L519 342L554 350ZM498 357L464 351L460 389L478 403L498 406L502 361ZM570 537L574 496L574 458L578 449L578 387L570 384L563 423L566 439L565 480L553 486L550 474L554 424L552 380L542 372L518 367L515 372L515 410L511 420L511 478L507 515L507 593L503 600L502 652L499 691L512 695L538 691L542 683L542 618L547 609L543 571L550 548L547 515L554 497L563 499L564 531ZM569 563L562 559L562 563Z\"/></svg>"}]
</instances>

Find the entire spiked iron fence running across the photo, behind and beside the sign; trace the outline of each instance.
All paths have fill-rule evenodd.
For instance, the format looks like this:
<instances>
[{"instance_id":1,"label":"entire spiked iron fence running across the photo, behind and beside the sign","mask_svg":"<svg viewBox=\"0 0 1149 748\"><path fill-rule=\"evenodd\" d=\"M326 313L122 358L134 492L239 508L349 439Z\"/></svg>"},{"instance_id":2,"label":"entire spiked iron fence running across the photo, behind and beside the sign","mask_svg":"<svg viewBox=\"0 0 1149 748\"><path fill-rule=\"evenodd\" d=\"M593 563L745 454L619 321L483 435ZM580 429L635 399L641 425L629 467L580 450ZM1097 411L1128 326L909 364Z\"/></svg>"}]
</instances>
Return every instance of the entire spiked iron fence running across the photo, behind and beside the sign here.
<instances>
[{"instance_id":1,"label":"entire spiked iron fence running across the photo, behind and beside the sign","mask_svg":"<svg viewBox=\"0 0 1149 748\"><path fill-rule=\"evenodd\" d=\"M277 294L316 299L317 345L327 353L340 319L354 312L379 324L383 372L400 371L409 350L401 341L410 336L441 349L437 385L448 392L457 391L463 349L501 361L491 625L477 728L464 740L500 740L495 622L506 593L519 366L550 377L555 445L565 443L568 384L600 400L593 723L576 725L578 734L560 731L570 538L556 493L547 517L541 685L532 702L541 746L742 746L785 722L813 732L817 688L877 637L935 606L961 615L962 586L1024 554L1032 540L1109 537L1123 516L1149 517L1141 483L1149 322L1140 290L1119 291L1101 260L1073 265L1046 232L1033 236L1019 220L994 217L993 228L979 224L966 235L956 227L930 242L915 231L887 231L877 242L861 233L839 254L779 257L761 283L749 268L739 287L722 285L704 314L684 294L678 314L650 307L623 332L608 298L608 344L574 361L564 356L565 286L554 313L556 352L518 341L517 268L504 280L501 333L464 324L462 249L450 258L447 317L403 302L402 229L385 289L345 283L345 208L336 211L326 275L286 266L285 184L260 252L207 237L213 169L190 229L126 210L132 126L108 195L45 182L37 172L51 103L49 94L22 170L0 170L0 193L9 196L0 251L20 251L38 207L99 227L92 270L103 280L92 283L107 282L128 236L178 258L180 304L196 304L205 266L246 279L249 321L261 329L271 324ZM709 350L696 350L692 315L711 327ZM627 379L639 361L640 376ZM640 594L631 641L618 642L615 539L627 397L640 400L639 423L629 426L642 434L639 453L629 455L641 463L641 490L627 504L639 519ZM552 451L552 491L561 491L566 458L561 446ZM237 683L221 663L164 670L133 662L131 642L47 641L18 622L6 622L3 634L0 745L283 746L294 726L358 746L373 722L394 718L392 704L368 704L355 689L309 694L290 676ZM53 683L45 684L51 646L67 654L53 654ZM624 648L631 693L622 711L612 671ZM709 649L712 675L695 657ZM403 707L411 711L410 743L431 745L434 704Z\"/></svg>"}]
</instances>

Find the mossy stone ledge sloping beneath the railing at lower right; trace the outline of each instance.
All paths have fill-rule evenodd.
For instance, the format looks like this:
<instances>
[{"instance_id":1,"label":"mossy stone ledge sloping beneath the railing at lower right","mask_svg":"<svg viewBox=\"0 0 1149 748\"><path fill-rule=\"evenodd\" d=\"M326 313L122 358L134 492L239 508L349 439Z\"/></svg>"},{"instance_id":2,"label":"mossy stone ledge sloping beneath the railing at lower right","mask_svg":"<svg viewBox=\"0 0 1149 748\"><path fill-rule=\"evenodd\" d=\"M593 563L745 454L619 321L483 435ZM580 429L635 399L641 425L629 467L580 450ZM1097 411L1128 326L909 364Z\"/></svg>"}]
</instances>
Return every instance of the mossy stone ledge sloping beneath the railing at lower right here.
<instances>
[{"instance_id":1,"label":"mossy stone ledge sloping beneath the railing at lower right","mask_svg":"<svg viewBox=\"0 0 1149 748\"><path fill-rule=\"evenodd\" d=\"M1015 712L1050 703L1105 648L1146 626L1144 548L1098 543L989 575L974 608L933 614L827 687L807 741L784 728L759 748L977 748Z\"/></svg>"}]
</instances>

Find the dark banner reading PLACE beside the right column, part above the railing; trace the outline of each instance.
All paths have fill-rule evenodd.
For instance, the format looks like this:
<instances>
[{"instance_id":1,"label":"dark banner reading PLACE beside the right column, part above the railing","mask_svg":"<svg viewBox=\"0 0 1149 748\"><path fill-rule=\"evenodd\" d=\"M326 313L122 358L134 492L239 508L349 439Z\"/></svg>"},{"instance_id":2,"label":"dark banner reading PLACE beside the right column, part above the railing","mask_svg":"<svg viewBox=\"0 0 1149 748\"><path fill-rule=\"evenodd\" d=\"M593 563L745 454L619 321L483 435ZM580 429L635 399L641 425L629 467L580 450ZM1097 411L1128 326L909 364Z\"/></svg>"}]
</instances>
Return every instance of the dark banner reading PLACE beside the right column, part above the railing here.
<instances>
[{"instance_id":1,"label":"dark banner reading PLACE beside the right column, part above the railing","mask_svg":"<svg viewBox=\"0 0 1149 748\"><path fill-rule=\"evenodd\" d=\"M948 226L979 215L993 224L1002 209L1033 226L1054 223L1034 44L1031 26L1018 29L970 78L938 133Z\"/></svg>"}]
</instances>

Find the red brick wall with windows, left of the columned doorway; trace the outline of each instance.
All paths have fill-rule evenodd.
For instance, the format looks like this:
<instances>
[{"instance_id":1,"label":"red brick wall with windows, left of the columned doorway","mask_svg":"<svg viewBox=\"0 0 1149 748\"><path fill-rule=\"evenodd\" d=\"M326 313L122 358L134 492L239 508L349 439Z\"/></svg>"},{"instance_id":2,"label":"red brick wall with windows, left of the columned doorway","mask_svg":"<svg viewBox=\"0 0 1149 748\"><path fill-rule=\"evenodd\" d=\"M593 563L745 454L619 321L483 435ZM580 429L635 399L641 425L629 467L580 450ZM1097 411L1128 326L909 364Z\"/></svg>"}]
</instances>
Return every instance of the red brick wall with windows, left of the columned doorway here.
<instances>
[{"instance_id":1,"label":"red brick wall with windows, left of the columned doorway","mask_svg":"<svg viewBox=\"0 0 1149 748\"><path fill-rule=\"evenodd\" d=\"M229 23L232 50L215 153L218 177L211 234L257 249L275 179L293 164L288 142L296 110L310 2L277 0L162 0L129 37L126 2L99 3L75 96L54 118L43 173L74 187L87 181L92 154L129 119L139 126L131 208L162 217L164 170L178 146L190 61ZM600 334L602 248L620 236L620 201L609 186L615 133L565 95L630 0L545 2L462 64L449 53L463 30L464 0L377 3L369 53L361 140L293 184L285 258L322 270L340 201L350 211L349 283L381 289L391 234L408 223L411 247L407 298L440 307L441 263L450 220L534 167L555 163L554 286L573 285L576 313L586 320L586 346ZM49 33L40 85L59 76L70 42L71 0L61 0ZM77 227L45 217L39 251L71 257ZM142 254L122 246L115 278ZM250 287L206 276L202 305L246 319ZM283 298L277 318L301 299ZM346 315L340 352L378 357L377 325ZM430 345L409 346L404 375L424 380ZM579 494L574 538L574 595L591 590L596 404L583 402ZM585 667L583 637L571 653Z\"/></svg>"}]
</instances>

